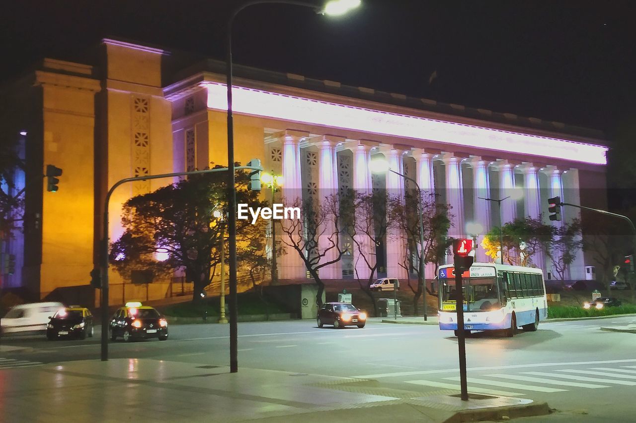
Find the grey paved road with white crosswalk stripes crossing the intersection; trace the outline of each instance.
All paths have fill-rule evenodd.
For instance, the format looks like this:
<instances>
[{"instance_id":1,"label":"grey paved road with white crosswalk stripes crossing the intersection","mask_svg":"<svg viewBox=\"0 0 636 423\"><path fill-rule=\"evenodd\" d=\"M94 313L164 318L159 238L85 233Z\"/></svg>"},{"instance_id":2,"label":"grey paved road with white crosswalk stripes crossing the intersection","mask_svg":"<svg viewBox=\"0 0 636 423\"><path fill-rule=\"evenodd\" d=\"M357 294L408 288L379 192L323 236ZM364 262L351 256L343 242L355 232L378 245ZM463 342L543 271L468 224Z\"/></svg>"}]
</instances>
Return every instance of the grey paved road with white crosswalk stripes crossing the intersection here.
<instances>
[{"instance_id":1,"label":"grey paved road with white crosswalk stripes crossing the intersection","mask_svg":"<svg viewBox=\"0 0 636 423\"><path fill-rule=\"evenodd\" d=\"M468 386L473 393L548 401L550 420L633 421L636 336L602 332L636 318L542 323L514 338L476 333L467 339ZM96 331L97 332L97 331ZM359 389L449 392L458 389L457 340L437 326L369 322L364 329L319 329L313 321L241 323L239 366L357 377ZM87 340L3 339L31 347L3 352L2 368L99 358L99 333ZM155 358L227 365L227 325L173 325L165 342L109 343L112 358ZM539 420L546 421L543 417Z\"/></svg>"}]
</instances>

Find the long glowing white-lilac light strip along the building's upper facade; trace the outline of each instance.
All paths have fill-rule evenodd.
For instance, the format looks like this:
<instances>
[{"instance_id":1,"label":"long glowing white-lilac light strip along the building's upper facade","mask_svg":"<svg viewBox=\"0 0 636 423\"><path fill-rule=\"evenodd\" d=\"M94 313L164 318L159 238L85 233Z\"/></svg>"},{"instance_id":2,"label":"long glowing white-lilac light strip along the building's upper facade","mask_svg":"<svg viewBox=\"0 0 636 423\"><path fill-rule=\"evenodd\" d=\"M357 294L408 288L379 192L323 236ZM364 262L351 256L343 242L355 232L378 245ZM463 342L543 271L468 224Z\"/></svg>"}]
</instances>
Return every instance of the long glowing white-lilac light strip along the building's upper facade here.
<instances>
[{"instance_id":1,"label":"long glowing white-lilac light strip along the building's upper facade","mask_svg":"<svg viewBox=\"0 0 636 423\"><path fill-rule=\"evenodd\" d=\"M226 111L225 84L204 83L204 85L207 86L208 90L207 107ZM234 86L232 95L233 111L242 114L378 133L392 137L430 140L460 147L506 151L591 164L607 164L605 159L607 147L602 145L363 109L362 107L239 86Z\"/></svg>"}]
</instances>

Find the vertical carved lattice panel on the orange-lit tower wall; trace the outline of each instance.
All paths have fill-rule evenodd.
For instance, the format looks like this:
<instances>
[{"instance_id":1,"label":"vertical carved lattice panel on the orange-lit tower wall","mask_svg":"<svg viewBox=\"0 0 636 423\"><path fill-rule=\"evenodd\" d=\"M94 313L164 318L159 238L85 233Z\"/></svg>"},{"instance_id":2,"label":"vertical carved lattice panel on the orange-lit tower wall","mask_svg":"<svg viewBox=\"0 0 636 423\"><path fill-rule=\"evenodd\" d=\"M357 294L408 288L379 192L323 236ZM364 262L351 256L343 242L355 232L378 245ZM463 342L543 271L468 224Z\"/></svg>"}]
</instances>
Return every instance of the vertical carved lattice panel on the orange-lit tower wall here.
<instances>
[{"instance_id":1,"label":"vertical carved lattice panel on the orange-lit tower wall","mask_svg":"<svg viewBox=\"0 0 636 423\"><path fill-rule=\"evenodd\" d=\"M150 102L132 97L132 170L135 177L150 174ZM133 183L133 195L150 192L150 181Z\"/></svg>"}]
</instances>

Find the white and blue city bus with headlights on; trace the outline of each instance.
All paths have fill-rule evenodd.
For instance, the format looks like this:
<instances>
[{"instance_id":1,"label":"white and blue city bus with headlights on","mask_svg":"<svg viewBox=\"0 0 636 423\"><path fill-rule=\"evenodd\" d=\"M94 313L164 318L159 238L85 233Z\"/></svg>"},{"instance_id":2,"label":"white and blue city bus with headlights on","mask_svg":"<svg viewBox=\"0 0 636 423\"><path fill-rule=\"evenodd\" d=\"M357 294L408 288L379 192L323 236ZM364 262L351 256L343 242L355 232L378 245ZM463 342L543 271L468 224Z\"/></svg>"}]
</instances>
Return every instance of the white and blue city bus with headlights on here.
<instances>
[{"instance_id":1,"label":"white and blue city bus with headlights on","mask_svg":"<svg viewBox=\"0 0 636 423\"><path fill-rule=\"evenodd\" d=\"M438 270L439 329L457 335L455 267ZM541 269L497 263L475 263L462 274L464 330L504 330L512 337L519 326L534 332L548 317Z\"/></svg>"}]
</instances>

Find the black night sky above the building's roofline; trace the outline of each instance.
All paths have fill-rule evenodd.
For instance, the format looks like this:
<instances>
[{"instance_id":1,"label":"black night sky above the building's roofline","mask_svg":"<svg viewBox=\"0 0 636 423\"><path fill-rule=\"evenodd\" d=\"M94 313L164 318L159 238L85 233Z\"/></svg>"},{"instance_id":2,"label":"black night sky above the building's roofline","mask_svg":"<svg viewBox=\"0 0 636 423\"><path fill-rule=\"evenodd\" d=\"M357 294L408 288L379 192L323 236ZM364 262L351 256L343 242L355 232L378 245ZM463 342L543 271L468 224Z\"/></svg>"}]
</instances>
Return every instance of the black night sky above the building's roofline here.
<instances>
[{"instance_id":1,"label":"black night sky above the building's roofline","mask_svg":"<svg viewBox=\"0 0 636 423\"><path fill-rule=\"evenodd\" d=\"M4 2L0 79L41 57L81 57L102 37L222 59L230 5L240 1ZM237 18L234 58L611 133L636 116L634 3L363 0L346 18L266 4Z\"/></svg>"}]
</instances>

